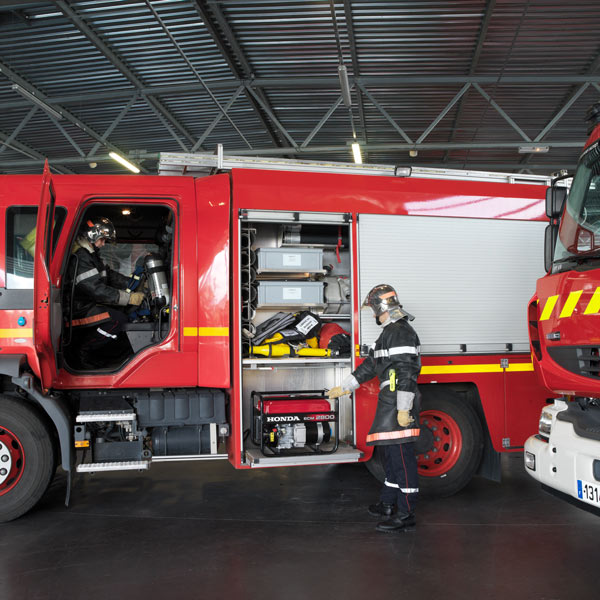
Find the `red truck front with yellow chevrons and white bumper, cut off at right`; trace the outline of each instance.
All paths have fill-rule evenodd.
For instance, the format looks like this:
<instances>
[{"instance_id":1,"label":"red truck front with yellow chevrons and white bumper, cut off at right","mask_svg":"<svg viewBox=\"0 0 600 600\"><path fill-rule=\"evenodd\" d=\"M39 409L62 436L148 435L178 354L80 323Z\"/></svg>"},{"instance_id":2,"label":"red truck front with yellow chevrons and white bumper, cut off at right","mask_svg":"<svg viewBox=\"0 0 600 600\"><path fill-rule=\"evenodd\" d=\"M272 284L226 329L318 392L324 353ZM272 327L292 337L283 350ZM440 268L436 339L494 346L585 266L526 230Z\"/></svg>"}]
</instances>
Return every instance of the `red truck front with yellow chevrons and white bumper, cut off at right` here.
<instances>
[{"instance_id":1,"label":"red truck front with yellow chevrons and white bumper, cut off at right","mask_svg":"<svg viewBox=\"0 0 600 600\"><path fill-rule=\"evenodd\" d=\"M547 275L529 304L529 331L536 370L560 398L543 409L525 465L549 490L598 508L600 103L587 120L590 137L568 197L556 184L547 193Z\"/></svg>"}]
</instances>

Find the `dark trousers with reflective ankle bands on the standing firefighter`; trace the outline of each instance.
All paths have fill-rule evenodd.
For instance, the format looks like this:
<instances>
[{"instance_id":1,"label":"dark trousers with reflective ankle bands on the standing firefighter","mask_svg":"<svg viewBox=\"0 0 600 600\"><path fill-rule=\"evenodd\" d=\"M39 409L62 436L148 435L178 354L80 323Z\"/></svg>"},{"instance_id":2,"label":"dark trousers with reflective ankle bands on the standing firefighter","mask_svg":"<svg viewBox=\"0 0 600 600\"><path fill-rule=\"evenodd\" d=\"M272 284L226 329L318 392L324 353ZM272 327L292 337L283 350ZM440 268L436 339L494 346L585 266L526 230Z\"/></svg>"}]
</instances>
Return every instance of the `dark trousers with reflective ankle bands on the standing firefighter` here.
<instances>
[{"instance_id":1,"label":"dark trousers with reflective ankle bands on the standing firefighter","mask_svg":"<svg viewBox=\"0 0 600 600\"><path fill-rule=\"evenodd\" d=\"M419 494L415 443L388 444L381 448L385 467L381 501L396 504L399 514L414 513Z\"/></svg>"}]
</instances>

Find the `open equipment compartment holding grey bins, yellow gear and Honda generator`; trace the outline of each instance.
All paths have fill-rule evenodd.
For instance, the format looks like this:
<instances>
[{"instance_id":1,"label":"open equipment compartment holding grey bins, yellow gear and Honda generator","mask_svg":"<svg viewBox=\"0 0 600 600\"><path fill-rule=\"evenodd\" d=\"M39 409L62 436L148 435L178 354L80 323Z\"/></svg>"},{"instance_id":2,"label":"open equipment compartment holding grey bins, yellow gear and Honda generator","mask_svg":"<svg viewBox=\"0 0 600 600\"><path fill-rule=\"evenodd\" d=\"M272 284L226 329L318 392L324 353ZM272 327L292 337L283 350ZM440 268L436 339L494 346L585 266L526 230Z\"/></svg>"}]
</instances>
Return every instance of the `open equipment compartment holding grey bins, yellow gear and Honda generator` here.
<instances>
[{"instance_id":1,"label":"open equipment compartment holding grey bins, yellow gear and Honda generator","mask_svg":"<svg viewBox=\"0 0 600 600\"><path fill-rule=\"evenodd\" d=\"M246 461L355 460L353 400L326 398L353 364L350 217L305 224L301 215L290 224L275 211L252 216L241 216L239 260Z\"/></svg>"}]
</instances>

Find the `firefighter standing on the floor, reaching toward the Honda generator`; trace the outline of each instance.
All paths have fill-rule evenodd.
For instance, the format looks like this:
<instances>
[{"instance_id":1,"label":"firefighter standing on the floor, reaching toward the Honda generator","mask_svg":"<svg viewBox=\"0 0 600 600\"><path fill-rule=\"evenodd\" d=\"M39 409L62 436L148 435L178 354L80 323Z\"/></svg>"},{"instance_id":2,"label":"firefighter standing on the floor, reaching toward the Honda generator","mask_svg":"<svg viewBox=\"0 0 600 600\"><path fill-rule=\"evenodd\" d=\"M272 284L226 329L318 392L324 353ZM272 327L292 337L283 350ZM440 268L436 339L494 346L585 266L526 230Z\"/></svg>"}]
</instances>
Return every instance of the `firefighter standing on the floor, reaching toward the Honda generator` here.
<instances>
[{"instance_id":1,"label":"firefighter standing on the floor, reaching toward the Honda generator","mask_svg":"<svg viewBox=\"0 0 600 600\"><path fill-rule=\"evenodd\" d=\"M369 356L341 386L329 391L329 397L349 394L360 384L379 377L377 411L367 435L367 445L382 446L385 483L380 501L369 506L369 513L387 517L377 525L378 531L412 530L416 524L415 505L419 493L415 441L420 433L417 388L421 371L420 342L409 323L414 317L402 310L392 286L375 286L362 307L373 311L382 332L369 349Z\"/></svg>"}]
</instances>

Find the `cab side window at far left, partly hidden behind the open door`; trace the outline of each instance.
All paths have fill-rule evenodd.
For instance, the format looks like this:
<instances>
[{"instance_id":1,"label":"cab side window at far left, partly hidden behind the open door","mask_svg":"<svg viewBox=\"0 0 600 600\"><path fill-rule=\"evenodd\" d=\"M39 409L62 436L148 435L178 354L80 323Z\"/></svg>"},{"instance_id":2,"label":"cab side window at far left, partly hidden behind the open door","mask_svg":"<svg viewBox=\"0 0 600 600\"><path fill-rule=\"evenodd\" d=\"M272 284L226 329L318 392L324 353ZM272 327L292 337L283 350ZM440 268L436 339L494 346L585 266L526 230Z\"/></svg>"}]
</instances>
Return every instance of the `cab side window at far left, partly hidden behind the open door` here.
<instances>
[{"instance_id":1,"label":"cab side window at far left, partly hidden behind the open door","mask_svg":"<svg viewBox=\"0 0 600 600\"><path fill-rule=\"evenodd\" d=\"M37 206L10 206L6 211L6 288L33 289ZM67 211L56 207L54 249Z\"/></svg>"}]
</instances>

